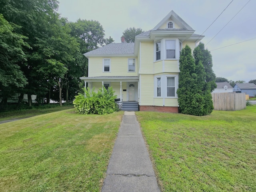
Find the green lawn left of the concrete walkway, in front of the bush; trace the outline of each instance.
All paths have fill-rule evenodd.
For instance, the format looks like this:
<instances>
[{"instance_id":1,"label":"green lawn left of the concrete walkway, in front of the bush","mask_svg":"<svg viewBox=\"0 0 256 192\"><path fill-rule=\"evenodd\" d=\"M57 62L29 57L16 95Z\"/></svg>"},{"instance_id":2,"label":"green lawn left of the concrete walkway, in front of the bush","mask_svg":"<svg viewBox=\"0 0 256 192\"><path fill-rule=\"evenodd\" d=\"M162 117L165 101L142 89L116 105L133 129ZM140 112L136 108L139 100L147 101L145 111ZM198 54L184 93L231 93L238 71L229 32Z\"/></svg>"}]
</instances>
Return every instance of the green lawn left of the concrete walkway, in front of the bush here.
<instances>
[{"instance_id":1,"label":"green lawn left of the concrete walkway, in front of the bush","mask_svg":"<svg viewBox=\"0 0 256 192\"><path fill-rule=\"evenodd\" d=\"M70 109L0 124L1 192L99 192L122 115Z\"/></svg>"}]
</instances>

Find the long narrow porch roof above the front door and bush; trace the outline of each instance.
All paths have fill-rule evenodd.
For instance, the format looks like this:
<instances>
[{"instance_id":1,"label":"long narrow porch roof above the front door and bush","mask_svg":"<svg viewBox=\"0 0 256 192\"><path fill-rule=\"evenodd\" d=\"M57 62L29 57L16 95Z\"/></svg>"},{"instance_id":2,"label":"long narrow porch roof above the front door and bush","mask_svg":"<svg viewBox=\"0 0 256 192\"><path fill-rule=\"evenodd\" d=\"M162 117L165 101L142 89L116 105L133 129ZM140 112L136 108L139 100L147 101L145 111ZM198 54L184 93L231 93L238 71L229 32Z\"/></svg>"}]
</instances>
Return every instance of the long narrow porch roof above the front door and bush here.
<instances>
[{"instance_id":1,"label":"long narrow porch roof above the front door and bush","mask_svg":"<svg viewBox=\"0 0 256 192\"><path fill-rule=\"evenodd\" d=\"M138 82L139 77L138 76L98 76L98 77L80 77L81 80L87 81L87 82L100 82L100 81L123 81L123 82Z\"/></svg>"}]
</instances>

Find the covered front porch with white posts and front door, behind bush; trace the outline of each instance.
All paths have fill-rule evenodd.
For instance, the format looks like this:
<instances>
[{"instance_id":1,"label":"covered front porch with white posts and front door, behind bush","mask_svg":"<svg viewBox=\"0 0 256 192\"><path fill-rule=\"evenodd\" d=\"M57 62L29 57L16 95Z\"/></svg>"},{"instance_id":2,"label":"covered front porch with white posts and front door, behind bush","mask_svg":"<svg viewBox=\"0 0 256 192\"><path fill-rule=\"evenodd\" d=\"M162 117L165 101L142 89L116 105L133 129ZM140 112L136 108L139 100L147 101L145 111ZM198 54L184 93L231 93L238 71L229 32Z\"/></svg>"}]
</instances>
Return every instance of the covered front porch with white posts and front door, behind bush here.
<instances>
[{"instance_id":1,"label":"covered front porch with white posts and front door, behind bush","mask_svg":"<svg viewBox=\"0 0 256 192\"><path fill-rule=\"evenodd\" d=\"M120 99L122 108L123 102L138 102L139 98L139 78L138 76L99 76L99 77L81 77L84 80L85 87L95 88L97 91L102 86L112 87Z\"/></svg>"}]
</instances>

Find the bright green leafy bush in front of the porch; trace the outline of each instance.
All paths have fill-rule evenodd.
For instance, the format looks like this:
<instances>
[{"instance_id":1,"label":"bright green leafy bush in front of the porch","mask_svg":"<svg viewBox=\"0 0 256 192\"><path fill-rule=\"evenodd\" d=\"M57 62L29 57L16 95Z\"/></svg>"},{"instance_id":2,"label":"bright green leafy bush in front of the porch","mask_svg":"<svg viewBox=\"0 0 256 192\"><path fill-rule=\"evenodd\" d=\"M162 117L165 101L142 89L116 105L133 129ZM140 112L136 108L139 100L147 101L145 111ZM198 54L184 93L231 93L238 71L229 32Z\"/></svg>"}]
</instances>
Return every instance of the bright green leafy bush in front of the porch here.
<instances>
[{"instance_id":1,"label":"bright green leafy bush in front of the porch","mask_svg":"<svg viewBox=\"0 0 256 192\"><path fill-rule=\"evenodd\" d=\"M102 86L102 90L96 93L94 88L90 91L89 88L85 90L84 94L78 94L73 102L76 112L79 114L109 114L117 111L115 103L116 95L112 87L108 90Z\"/></svg>"}]
</instances>

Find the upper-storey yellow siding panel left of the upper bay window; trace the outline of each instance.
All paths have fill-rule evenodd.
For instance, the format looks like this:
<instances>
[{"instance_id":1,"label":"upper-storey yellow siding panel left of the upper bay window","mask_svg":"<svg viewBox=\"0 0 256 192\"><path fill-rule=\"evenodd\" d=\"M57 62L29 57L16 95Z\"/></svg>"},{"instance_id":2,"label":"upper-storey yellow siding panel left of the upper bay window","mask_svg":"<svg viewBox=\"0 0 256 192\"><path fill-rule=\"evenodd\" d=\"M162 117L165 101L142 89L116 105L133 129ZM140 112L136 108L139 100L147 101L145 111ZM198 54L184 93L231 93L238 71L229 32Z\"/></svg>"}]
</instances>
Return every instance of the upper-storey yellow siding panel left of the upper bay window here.
<instances>
[{"instance_id":1,"label":"upper-storey yellow siding panel left of the upper bay window","mask_svg":"<svg viewBox=\"0 0 256 192\"><path fill-rule=\"evenodd\" d=\"M141 42L140 74L153 74L154 42Z\"/></svg>"}]
</instances>

